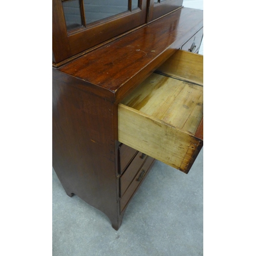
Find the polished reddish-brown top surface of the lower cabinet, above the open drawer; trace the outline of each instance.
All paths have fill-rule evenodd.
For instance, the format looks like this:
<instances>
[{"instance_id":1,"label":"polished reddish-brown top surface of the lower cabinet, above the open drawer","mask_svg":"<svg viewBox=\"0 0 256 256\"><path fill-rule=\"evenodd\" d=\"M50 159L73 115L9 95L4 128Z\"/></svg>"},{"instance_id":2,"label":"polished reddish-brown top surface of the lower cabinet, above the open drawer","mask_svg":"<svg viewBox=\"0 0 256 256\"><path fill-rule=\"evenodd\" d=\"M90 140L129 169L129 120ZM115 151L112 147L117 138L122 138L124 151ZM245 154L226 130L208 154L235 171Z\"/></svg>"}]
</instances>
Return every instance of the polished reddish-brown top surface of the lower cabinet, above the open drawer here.
<instances>
[{"instance_id":1,"label":"polished reddish-brown top surface of the lower cabinet, above the open drawer","mask_svg":"<svg viewBox=\"0 0 256 256\"><path fill-rule=\"evenodd\" d=\"M120 100L202 27L202 10L181 8L57 70Z\"/></svg>"}]
</instances>

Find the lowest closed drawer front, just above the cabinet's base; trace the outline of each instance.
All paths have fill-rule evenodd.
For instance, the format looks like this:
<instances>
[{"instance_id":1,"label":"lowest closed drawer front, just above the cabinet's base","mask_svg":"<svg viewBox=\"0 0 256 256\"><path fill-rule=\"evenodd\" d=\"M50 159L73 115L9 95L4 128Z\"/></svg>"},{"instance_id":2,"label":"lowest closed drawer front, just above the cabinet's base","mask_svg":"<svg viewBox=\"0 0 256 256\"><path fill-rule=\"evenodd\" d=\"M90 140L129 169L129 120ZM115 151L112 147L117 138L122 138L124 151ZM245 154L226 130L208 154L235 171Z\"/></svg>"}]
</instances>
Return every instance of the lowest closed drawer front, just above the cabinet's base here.
<instances>
[{"instance_id":1,"label":"lowest closed drawer front, just above the cabinet's base","mask_svg":"<svg viewBox=\"0 0 256 256\"><path fill-rule=\"evenodd\" d=\"M129 203L130 199L134 195L136 189L141 184L141 182L144 180L144 177L146 176L148 170L151 168L152 163L154 162L154 158L147 157L144 164L140 168L139 172L137 173L136 177L134 178L131 185L128 187L126 192L124 193L123 197L120 199L120 212L123 211L127 203Z\"/></svg>"}]
</instances>

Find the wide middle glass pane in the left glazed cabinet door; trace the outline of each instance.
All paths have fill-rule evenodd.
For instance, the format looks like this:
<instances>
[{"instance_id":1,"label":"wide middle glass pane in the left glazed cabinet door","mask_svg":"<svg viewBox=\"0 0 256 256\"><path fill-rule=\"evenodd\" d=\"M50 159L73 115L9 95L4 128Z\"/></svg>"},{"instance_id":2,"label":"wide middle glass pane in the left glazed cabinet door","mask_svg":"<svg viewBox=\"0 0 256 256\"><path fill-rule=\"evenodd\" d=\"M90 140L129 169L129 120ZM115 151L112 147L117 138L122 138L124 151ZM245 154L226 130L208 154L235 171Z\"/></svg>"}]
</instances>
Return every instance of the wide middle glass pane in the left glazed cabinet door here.
<instances>
[{"instance_id":1,"label":"wide middle glass pane in the left glazed cabinet door","mask_svg":"<svg viewBox=\"0 0 256 256\"><path fill-rule=\"evenodd\" d=\"M129 0L83 0L86 24L128 11Z\"/></svg>"}]
</instances>

